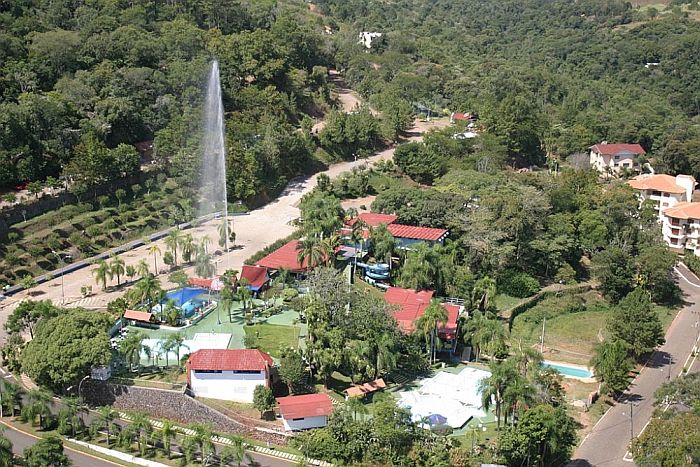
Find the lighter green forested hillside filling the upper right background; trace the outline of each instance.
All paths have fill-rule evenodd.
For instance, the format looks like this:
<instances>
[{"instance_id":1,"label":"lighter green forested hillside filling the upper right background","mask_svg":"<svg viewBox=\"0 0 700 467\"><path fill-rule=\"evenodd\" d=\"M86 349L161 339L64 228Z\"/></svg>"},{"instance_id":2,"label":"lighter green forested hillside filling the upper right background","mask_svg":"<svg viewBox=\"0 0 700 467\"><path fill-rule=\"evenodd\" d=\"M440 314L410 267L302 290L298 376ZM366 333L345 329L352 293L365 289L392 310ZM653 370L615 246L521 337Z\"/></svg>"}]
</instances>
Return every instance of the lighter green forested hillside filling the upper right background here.
<instances>
[{"instance_id":1,"label":"lighter green forested hillside filling the upper right background","mask_svg":"<svg viewBox=\"0 0 700 467\"><path fill-rule=\"evenodd\" d=\"M318 0L353 31L385 34L364 54L343 53L348 37L337 55L366 96L476 110L522 164L639 142L658 165L697 176L700 12L670 3Z\"/></svg>"}]
</instances>

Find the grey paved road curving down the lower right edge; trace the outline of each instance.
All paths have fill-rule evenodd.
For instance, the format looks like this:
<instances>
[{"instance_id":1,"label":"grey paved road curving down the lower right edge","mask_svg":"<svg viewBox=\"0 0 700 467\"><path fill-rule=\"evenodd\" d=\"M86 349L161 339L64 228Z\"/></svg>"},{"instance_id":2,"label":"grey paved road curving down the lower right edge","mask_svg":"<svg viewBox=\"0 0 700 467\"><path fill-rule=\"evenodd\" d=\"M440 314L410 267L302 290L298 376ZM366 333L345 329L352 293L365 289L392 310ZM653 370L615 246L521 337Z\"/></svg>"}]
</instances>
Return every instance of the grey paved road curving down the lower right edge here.
<instances>
[{"instance_id":1,"label":"grey paved road curving down the lower right edge","mask_svg":"<svg viewBox=\"0 0 700 467\"><path fill-rule=\"evenodd\" d=\"M691 367L692 371L700 370L700 359L689 359L698 336L698 328L695 326L700 320L700 280L683 265L678 266L676 271L678 284L688 305L676 316L666 333L666 343L652 354L649 363L633 381L625 396L626 400L634 404L632 420L629 404L619 403L610 408L593 431L584 438L574 453L570 466L633 465L631 459L625 459L630 430L634 436L639 436L649 422L654 411L656 389L668 380L669 375L671 378L677 377L686 365Z\"/></svg>"}]
</instances>

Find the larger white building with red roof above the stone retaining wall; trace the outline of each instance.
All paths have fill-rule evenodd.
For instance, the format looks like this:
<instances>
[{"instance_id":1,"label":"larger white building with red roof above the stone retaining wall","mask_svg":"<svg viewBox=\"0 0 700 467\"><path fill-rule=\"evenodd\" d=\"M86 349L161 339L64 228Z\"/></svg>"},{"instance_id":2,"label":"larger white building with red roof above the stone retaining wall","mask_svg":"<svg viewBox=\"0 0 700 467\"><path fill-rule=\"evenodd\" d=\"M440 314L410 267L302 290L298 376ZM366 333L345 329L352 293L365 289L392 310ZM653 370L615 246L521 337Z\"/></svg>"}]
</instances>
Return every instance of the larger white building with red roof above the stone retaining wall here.
<instances>
[{"instance_id":1,"label":"larger white building with red roof above the stone retaining wall","mask_svg":"<svg viewBox=\"0 0 700 467\"><path fill-rule=\"evenodd\" d=\"M202 349L187 359L187 384L197 397L251 403L257 386L271 386L273 366L256 349Z\"/></svg>"}]
</instances>

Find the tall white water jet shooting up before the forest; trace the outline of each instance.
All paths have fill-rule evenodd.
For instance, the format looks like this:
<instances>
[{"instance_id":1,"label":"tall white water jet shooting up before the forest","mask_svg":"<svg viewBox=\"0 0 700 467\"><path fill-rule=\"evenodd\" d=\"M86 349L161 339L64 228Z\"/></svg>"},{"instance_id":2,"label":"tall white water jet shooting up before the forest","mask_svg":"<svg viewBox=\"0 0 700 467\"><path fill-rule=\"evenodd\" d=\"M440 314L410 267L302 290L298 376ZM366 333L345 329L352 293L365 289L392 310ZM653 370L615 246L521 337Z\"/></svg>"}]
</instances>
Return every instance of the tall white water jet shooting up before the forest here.
<instances>
[{"instance_id":1,"label":"tall white water jet shooting up before the forest","mask_svg":"<svg viewBox=\"0 0 700 467\"><path fill-rule=\"evenodd\" d=\"M223 211L224 237L228 251L228 201L226 198L226 149L224 143L224 105L221 99L219 62L214 60L207 83L204 108L204 153L200 171L200 215Z\"/></svg>"}]
</instances>

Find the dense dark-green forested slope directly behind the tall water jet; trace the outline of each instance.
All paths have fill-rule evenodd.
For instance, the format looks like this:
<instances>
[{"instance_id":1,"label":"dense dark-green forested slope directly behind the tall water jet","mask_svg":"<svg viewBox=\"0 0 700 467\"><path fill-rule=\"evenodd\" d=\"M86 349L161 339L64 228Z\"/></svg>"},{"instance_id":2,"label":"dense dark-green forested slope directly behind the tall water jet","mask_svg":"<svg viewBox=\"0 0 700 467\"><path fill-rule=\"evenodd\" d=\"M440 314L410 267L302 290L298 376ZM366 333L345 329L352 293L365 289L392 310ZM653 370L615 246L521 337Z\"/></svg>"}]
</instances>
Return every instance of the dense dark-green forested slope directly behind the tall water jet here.
<instances>
[{"instance_id":1,"label":"dense dark-green forested slope directly behind the tall water jet","mask_svg":"<svg viewBox=\"0 0 700 467\"><path fill-rule=\"evenodd\" d=\"M284 185L313 166L297 128L328 97L322 31L300 0L0 0L0 188L63 175L80 194L138 172L133 144L152 139L192 185L213 56L231 197Z\"/></svg>"}]
</instances>

